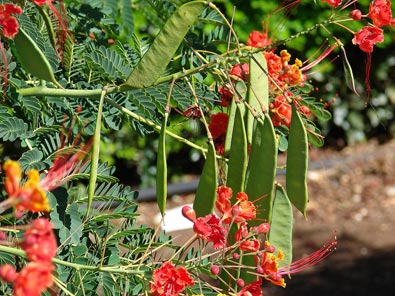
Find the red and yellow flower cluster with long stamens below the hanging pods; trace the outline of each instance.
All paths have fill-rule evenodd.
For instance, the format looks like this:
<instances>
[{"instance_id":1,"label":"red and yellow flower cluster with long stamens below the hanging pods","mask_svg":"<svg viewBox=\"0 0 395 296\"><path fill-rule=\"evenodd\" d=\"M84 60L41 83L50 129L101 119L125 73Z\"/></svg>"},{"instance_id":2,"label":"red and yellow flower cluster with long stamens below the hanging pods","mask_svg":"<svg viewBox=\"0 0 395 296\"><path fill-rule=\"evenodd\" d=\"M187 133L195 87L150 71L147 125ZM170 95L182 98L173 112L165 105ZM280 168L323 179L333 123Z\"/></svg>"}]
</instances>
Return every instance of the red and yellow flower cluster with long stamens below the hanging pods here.
<instances>
[{"instance_id":1,"label":"red and yellow flower cluster with long stamens below the hanging pods","mask_svg":"<svg viewBox=\"0 0 395 296\"><path fill-rule=\"evenodd\" d=\"M233 196L231 188L218 187L215 209L216 214L196 218L194 210L189 206L184 206L182 214L193 222L193 230L198 238L212 243L215 249L223 250L224 258L219 261L222 262L222 268L227 270L225 274L232 274L241 256L253 258L254 266L240 265L238 268L245 269L247 273L255 276L256 280L246 285L244 280L234 278L236 286L240 289L237 295L262 295L260 288L262 279L285 287L284 275L297 273L320 262L331 254L336 246L336 240L330 240L318 251L305 258L290 265L281 266L280 262L284 259L283 252L276 250L276 247L267 239L262 242L261 235L269 232L270 224L264 222L258 226L248 225L256 217L256 207L248 200L246 193L239 192ZM224 262L230 264L227 265ZM212 264L210 270L212 275L220 276L221 268L217 263Z\"/></svg>"}]
</instances>

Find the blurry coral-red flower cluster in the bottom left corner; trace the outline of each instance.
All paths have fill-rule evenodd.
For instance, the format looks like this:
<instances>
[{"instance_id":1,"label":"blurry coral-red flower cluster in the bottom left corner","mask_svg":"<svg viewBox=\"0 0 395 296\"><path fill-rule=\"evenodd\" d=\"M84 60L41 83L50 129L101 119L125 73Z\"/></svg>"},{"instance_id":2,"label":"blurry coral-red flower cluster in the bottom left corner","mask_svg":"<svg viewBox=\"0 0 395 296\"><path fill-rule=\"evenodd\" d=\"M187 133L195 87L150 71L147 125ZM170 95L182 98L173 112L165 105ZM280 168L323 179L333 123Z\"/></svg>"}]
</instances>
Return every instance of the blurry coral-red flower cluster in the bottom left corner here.
<instances>
[{"instance_id":1,"label":"blurry coral-red flower cluster in the bottom left corner","mask_svg":"<svg viewBox=\"0 0 395 296\"><path fill-rule=\"evenodd\" d=\"M52 285L57 243L52 224L44 218L33 221L23 235L21 248L29 260L17 272L10 264L0 266L0 278L14 284L14 296L40 296Z\"/></svg>"}]
</instances>

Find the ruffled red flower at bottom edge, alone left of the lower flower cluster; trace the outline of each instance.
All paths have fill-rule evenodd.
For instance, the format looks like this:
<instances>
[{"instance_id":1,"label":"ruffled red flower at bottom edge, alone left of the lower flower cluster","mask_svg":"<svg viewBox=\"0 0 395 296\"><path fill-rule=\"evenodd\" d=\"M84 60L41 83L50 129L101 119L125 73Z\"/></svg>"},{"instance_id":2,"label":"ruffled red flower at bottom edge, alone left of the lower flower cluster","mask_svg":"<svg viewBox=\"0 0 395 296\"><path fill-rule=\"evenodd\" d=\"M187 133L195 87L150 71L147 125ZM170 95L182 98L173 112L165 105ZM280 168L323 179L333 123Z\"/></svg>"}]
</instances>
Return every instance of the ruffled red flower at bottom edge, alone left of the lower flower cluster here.
<instances>
[{"instance_id":1,"label":"ruffled red flower at bottom edge, alone left of the lower flower cluster","mask_svg":"<svg viewBox=\"0 0 395 296\"><path fill-rule=\"evenodd\" d=\"M176 269L171 262L165 262L152 274L150 283L153 296L178 296L194 282L184 267Z\"/></svg>"}]
</instances>

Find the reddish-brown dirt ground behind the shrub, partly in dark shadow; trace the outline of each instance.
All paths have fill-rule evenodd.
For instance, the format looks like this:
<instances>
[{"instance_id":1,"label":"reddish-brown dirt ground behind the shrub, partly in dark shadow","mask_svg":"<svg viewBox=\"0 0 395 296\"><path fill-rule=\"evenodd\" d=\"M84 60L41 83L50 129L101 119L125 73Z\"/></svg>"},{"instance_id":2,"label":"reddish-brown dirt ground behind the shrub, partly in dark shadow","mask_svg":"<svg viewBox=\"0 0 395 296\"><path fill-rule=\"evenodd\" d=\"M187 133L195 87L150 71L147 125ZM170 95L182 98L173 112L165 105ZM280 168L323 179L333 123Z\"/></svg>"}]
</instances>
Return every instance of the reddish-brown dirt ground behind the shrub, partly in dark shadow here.
<instances>
[{"instance_id":1,"label":"reddish-brown dirt ground behind the shrub, partly in dark shadow","mask_svg":"<svg viewBox=\"0 0 395 296\"><path fill-rule=\"evenodd\" d=\"M395 295L395 141L312 150L310 158L308 220L295 212L294 259L334 233L337 250L287 279L286 289L265 285L264 295ZM179 195L168 206L192 200ZM152 225L153 209L155 204L141 203L141 223Z\"/></svg>"}]
</instances>

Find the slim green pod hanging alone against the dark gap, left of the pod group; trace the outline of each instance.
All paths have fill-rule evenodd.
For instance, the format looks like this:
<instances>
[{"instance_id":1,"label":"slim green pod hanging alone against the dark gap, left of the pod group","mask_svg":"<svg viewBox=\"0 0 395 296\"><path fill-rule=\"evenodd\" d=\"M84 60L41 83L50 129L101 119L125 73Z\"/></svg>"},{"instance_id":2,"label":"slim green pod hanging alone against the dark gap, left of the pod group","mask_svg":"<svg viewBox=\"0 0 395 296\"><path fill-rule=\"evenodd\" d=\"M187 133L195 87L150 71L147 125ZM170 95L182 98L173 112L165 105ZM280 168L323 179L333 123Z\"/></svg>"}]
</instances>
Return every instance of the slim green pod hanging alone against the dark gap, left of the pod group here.
<instances>
[{"instance_id":1,"label":"slim green pod hanging alone against the dark gap, left of the pod group","mask_svg":"<svg viewBox=\"0 0 395 296\"><path fill-rule=\"evenodd\" d=\"M156 162L156 201L162 216L166 211L167 199L167 162L166 162L166 126L169 112L165 112L159 136L158 156Z\"/></svg>"}]
</instances>

